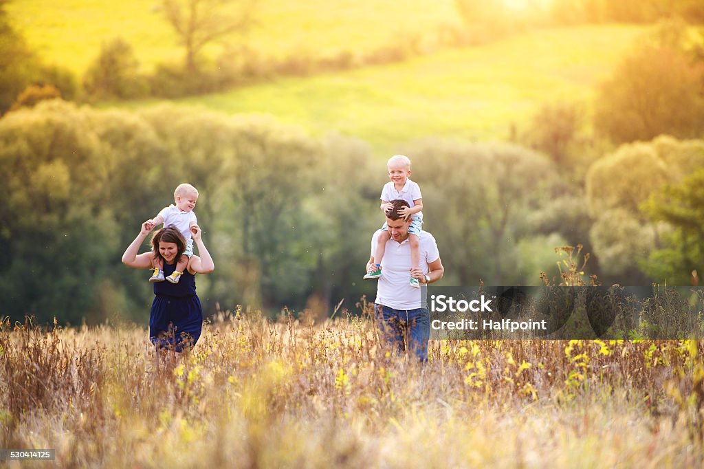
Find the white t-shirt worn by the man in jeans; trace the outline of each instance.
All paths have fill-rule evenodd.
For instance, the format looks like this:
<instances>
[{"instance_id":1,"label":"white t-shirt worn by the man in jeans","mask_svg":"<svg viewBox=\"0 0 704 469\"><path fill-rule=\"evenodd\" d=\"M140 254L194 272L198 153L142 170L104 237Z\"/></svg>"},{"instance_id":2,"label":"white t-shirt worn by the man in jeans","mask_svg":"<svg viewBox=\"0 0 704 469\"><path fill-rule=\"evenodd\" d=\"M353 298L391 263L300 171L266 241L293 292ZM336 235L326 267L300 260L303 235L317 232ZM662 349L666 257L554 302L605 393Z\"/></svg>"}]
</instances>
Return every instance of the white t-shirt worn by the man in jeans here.
<instances>
[{"instance_id":1,"label":"white t-shirt worn by the man in jeans","mask_svg":"<svg viewBox=\"0 0 704 469\"><path fill-rule=\"evenodd\" d=\"M382 230L372 236L372 256L377 246L377 237ZM429 232L420 232L420 268L428 273L428 264L440 258L435 238ZM382 258L382 277L377 280L375 304L394 309L415 309L422 307L421 289L411 287L410 280L410 241L406 238L400 244L394 239L386 242Z\"/></svg>"}]
</instances>

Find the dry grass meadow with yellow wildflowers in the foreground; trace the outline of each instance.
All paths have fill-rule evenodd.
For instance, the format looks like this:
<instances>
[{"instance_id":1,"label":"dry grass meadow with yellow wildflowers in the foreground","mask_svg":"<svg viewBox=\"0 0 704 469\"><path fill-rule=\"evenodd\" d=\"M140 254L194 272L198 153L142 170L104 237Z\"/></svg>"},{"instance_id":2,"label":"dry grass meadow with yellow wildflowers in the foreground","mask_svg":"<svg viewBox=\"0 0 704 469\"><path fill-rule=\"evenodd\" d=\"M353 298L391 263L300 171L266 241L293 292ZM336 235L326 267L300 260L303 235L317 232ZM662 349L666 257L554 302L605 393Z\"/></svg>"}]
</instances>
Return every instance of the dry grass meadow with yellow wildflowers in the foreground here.
<instances>
[{"instance_id":1,"label":"dry grass meadow with yellow wildflowers in the foreground","mask_svg":"<svg viewBox=\"0 0 704 469\"><path fill-rule=\"evenodd\" d=\"M54 448L61 467L704 463L696 341L430 346L420 365L364 317L237 312L160 360L142 326L6 320L0 447Z\"/></svg>"}]
</instances>

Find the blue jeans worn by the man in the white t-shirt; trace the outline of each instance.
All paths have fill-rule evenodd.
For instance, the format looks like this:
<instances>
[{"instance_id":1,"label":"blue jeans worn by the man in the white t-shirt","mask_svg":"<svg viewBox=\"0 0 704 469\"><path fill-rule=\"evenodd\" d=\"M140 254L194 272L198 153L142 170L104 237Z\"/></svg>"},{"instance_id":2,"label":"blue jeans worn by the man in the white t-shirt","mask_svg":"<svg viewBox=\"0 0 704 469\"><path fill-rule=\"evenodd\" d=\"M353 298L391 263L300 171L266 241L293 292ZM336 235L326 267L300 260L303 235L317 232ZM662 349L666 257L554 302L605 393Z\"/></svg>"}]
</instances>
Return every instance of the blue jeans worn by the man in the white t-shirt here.
<instances>
[{"instance_id":1,"label":"blue jeans worn by the man in the white t-shirt","mask_svg":"<svg viewBox=\"0 0 704 469\"><path fill-rule=\"evenodd\" d=\"M430 312L428 308L394 309L374 305L377 325L398 351L413 350L420 361L428 360Z\"/></svg>"}]
</instances>

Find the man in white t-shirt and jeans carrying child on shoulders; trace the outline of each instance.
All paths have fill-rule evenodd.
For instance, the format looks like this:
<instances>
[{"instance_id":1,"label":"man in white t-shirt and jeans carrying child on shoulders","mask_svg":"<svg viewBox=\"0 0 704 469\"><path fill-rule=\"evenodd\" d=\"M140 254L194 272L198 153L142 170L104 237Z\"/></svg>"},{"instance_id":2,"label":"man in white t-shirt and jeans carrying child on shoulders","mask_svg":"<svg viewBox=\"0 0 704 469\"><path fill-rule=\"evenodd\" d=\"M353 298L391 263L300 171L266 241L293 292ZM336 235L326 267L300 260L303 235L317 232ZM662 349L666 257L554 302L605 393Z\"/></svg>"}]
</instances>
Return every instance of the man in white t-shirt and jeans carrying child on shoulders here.
<instances>
[{"instance_id":1,"label":"man in white t-shirt and jeans carrying child on shoulders","mask_svg":"<svg viewBox=\"0 0 704 469\"><path fill-rule=\"evenodd\" d=\"M411 287L408 275L410 273L425 286L440 280L445 269L435 238L425 231L420 232L420 265L411 265L408 240L411 220L410 217L404 219L398 213L401 208L408 207L408 202L394 200L391 204L393 208L386 214L386 229L391 238L386 242L386 253L382 258L384 276L379 278L374 301L377 323L386 338L395 343L399 350L413 349L421 361L427 361L430 313L422 301L425 289ZM374 250L381 232L375 232L372 237L372 255L367 263L367 272L376 268Z\"/></svg>"}]
</instances>

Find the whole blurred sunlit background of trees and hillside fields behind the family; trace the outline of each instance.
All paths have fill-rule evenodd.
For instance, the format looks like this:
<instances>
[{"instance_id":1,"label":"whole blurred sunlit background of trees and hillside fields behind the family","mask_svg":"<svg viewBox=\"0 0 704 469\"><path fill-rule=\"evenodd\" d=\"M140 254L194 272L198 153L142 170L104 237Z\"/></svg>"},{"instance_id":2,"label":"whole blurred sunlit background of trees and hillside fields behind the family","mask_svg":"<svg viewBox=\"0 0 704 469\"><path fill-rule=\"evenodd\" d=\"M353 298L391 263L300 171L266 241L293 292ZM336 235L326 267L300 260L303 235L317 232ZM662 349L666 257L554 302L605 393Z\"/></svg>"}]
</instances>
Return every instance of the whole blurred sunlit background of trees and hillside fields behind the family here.
<instances>
[{"instance_id":1,"label":"whole blurred sunlit background of trees and hillside fields behind the family","mask_svg":"<svg viewBox=\"0 0 704 469\"><path fill-rule=\"evenodd\" d=\"M603 284L696 283L698 3L0 0L0 315L144 322L120 254L184 181L208 313L354 308L396 153L445 284L577 244Z\"/></svg>"}]
</instances>

